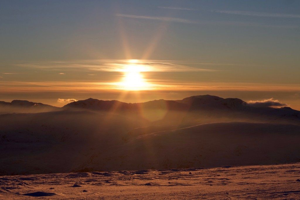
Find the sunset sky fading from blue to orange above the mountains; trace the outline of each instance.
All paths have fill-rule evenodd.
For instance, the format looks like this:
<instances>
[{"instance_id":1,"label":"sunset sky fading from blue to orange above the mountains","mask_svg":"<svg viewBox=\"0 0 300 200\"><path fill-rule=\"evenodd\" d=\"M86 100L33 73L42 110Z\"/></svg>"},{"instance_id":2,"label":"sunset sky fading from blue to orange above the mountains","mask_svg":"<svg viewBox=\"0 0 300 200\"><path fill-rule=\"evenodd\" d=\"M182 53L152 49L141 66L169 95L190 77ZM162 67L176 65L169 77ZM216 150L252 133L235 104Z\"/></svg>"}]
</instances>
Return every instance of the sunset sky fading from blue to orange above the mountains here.
<instances>
[{"instance_id":1,"label":"sunset sky fading from blue to orange above the mountains","mask_svg":"<svg viewBox=\"0 0 300 200\"><path fill-rule=\"evenodd\" d=\"M2 0L0 44L1 101L211 94L300 110L296 0Z\"/></svg>"}]
</instances>

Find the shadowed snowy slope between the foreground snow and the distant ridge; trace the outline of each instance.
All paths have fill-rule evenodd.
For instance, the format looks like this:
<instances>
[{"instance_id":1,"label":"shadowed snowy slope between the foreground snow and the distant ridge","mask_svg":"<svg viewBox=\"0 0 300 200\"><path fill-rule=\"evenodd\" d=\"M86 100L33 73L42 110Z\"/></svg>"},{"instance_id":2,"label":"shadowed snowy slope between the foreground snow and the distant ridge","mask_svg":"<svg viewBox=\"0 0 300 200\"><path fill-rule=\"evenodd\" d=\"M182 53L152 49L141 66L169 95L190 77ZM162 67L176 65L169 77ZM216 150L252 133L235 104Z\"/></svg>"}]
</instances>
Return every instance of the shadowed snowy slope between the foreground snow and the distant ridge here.
<instances>
[{"instance_id":1,"label":"shadowed snowy slope between the foreground snow and the distant ridge","mask_svg":"<svg viewBox=\"0 0 300 200\"><path fill-rule=\"evenodd\" d=\"M0 116L1 174L300 161L300 127L292 124L232 122L174 130L92 112L16 115Z\"/></svg>"}]
</instances>

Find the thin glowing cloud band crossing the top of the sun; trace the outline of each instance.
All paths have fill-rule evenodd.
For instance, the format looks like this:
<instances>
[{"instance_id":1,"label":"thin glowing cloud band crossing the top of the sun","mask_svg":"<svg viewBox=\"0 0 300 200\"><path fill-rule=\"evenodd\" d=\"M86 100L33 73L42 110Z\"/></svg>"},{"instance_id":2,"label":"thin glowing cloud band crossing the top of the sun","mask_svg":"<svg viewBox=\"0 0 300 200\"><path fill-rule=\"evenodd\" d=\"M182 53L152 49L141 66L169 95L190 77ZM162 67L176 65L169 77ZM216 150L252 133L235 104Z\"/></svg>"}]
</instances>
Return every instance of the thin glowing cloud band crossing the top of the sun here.
<instances>
[{"instance_id":1,"label":"thin glowing cloud band crossing the top of the sun","mask_svg":"<svg viewBox=\"0 0 300 200\"><path fill-rule=\"evenodd\" d=\"M207 66L207 68L190 67L189 64ZM128 67L135 67L140 72L181 72L181 71L217 71L211 69L213 65L230 65L214 63L189 63L184 61L168 60L138 60L132 63L131 60L79 60L79 61L55 61L41 63L17 64L26 68L38 68L40 70L57 71L107 71L107 72L126 72ZM64 73L60 73L64 74Z\"/></svg>"}]
</instances>

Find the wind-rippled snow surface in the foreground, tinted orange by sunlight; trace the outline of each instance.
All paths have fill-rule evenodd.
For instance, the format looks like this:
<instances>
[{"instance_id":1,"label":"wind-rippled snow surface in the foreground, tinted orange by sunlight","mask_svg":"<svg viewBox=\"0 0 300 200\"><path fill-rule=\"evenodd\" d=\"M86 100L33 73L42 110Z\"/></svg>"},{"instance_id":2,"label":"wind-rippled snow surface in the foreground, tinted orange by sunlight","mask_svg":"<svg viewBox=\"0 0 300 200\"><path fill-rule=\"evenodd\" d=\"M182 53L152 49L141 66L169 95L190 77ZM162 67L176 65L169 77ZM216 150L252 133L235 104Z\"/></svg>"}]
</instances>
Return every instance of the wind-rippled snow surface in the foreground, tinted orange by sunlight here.
<instances>
[{"instance_id":1,"label":"wind-rippled snow surface in the foreground, tinted orange by sunlight","mask_svg":"<svg viewBox=\"0 0 300 200\"><path fill-rule=\"evenodd\" d=\"M294 163L2 176L0 199L299 199L299 169Z\"/></svg>"}]
</instances>

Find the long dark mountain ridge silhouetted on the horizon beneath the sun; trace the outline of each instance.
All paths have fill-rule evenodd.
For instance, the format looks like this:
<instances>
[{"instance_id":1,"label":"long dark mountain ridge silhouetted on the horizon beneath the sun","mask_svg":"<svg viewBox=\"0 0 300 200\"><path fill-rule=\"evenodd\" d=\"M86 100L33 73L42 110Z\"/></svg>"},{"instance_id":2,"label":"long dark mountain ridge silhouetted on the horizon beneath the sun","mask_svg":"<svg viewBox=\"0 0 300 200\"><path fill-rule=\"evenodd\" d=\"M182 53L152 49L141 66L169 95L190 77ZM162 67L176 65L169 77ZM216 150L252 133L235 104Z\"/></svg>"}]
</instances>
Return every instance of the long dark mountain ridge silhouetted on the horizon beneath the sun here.
<instances>
[{"instance_id":1,"label":"long dark mountain ridge silhouetted on the horizon beneath the sun","mask_svg":"<svg viewBox=\"0 0 300 200\"><path fill-rule=\"evenodd\" d=\"M182 100L153 100L144 103L124 103L117 100L79 100L62 107L64 110L122 112L134 114L159 125L178 125L213 122L249 121L300 124L300 111L288 107L254 107L237 98L211 95L187 97ZM155 124L152 124L155 125Z\"/></svg>"}]
</instances>

